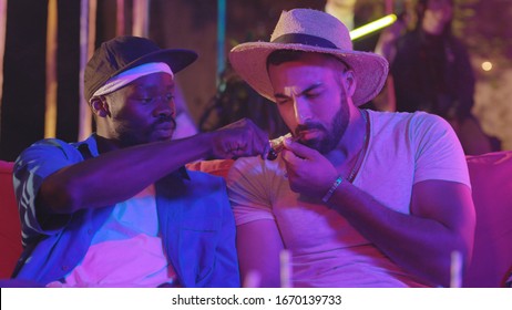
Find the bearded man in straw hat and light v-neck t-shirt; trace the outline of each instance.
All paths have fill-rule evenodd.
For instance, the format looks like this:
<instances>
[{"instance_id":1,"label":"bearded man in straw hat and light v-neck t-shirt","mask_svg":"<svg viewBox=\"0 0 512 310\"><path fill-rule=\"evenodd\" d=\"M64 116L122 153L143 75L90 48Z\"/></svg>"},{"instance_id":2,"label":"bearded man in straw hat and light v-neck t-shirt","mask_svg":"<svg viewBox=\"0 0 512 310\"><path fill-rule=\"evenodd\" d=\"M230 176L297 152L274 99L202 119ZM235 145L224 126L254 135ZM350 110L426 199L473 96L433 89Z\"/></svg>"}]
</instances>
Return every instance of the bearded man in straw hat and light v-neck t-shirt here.
<instances>
[{"instance_id":1,"label":"bearded man in straw hat and light v-neck t-shirt","mask_svg":"<svg viewBox=\"0 0 512 310\"><path fill-rule=\"evenodd\" d=\"M325 12L283 12L270 42L239 44L229 60L293 134L276 161L240 158L229 172L243 277L279 286L287 249L294 287L448 286L452 254L468 264L475 225L450 125L358 108L388 63L354 51Z\"/></svg>"}]
</instances>

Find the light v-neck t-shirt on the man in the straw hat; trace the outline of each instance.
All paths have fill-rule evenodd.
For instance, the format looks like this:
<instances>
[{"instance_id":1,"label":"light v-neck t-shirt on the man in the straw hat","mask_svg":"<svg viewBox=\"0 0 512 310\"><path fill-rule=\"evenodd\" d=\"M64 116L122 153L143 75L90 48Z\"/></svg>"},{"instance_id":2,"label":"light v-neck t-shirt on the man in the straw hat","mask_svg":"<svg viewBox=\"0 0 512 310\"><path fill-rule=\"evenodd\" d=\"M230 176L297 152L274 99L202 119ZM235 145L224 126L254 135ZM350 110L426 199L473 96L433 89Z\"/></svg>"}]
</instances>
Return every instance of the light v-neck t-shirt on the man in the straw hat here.
<instances>
[{"instance_id":1,"label":"light v-neck t-shirt on the man in the straw hat","mask_svg":"<svg viewBox=\"0 0 512 310\"><path fill-rule=\"evenodd\" d=\"M441 117L368 111L368 151L354 185L397 211L409 214L414 183L427 179L470 186L462 147ZM274 219L291 252L295 287L423 286L319 199L294 193L280 156L239 158L228 175L237 225Z\"/></svg>"}]
</instances>

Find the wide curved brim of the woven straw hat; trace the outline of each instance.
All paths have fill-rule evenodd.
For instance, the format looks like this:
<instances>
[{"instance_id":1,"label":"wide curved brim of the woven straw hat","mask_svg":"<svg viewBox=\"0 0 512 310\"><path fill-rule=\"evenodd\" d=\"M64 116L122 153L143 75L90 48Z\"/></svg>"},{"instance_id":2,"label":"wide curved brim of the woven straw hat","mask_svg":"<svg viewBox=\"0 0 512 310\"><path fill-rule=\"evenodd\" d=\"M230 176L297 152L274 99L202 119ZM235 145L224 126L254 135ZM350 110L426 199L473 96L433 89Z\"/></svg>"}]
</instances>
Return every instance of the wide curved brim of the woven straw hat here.
<instances>
[{"instance_id":1,"label":"wide curved brim of the woven straw hat","mask_svg":"<svg viewBox=\"0 0 512 310\"><path fill-rule=\"evenodd\" d=\"M267 58L277 50L327 53L341 59L355 72L357 87L352 102L358 106L377 96L388 76L388 61L375 53L341 51L299 43L250 42L233 48L229 52L229 62L233 69L256 92L270 101L275 101L275 97L267 72Z\"/></svg>"}]
</instances>

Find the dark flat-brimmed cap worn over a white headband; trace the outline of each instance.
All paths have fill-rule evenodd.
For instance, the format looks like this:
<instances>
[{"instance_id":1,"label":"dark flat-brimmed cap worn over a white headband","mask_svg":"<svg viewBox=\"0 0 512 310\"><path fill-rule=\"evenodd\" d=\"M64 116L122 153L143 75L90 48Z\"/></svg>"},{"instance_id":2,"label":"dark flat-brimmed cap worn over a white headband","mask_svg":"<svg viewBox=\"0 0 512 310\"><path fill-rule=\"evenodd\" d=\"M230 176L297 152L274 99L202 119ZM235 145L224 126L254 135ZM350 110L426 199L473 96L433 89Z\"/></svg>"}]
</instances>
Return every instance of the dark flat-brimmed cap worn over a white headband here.
<instances>
[{"instance_id":1,"label":"dark flat-brimmed cap worn over a white headband","mask_svg":"<svg viewBox=\"0 0 512 310\"><path fill-rule=\"evenodd\" d=\"M140 37L117 37L103 42L88 62L84 72L84 95L89 102L109 79L131 68L164 62L177 73L197 59L191 50L161 49L153 41Z\"/></svg>"}]
</instances>

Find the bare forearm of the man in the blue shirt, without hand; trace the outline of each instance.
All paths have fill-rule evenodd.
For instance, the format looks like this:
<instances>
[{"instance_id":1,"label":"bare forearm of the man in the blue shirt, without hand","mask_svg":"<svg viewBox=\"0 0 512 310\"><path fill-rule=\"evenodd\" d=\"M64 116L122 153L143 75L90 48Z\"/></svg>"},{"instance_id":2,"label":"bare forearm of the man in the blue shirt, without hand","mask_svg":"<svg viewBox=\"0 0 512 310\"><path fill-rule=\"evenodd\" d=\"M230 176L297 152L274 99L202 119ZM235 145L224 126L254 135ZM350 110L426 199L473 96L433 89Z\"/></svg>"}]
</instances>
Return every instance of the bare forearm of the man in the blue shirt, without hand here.
<instances>
[{"instance_id":1,"label":"bare forearm of the man in the blue shirt, without hand","mask_svg":"<svg viewBox=\"0 0 512 310\"><path fill-rule=\"evenodd\" d=\"M50 175L40 202L64 214L115 204L208 152L209 134L112 151Z\"/></svg>"}]
</instances>

